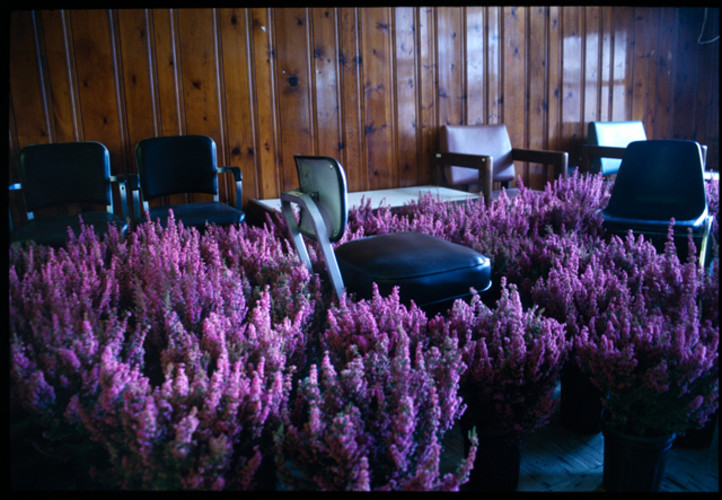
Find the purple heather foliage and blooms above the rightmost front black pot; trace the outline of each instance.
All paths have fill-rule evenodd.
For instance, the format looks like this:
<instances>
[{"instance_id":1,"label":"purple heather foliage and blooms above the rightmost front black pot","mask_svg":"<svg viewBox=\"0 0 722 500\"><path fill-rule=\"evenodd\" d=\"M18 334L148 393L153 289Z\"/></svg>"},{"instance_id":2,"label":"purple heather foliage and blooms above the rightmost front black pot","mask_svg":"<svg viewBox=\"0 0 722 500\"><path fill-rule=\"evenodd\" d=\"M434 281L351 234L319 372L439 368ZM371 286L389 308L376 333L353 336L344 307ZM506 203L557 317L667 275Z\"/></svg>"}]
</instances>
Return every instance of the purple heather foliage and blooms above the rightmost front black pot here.
<instances>
[{"instance_id":1,"label":"purple heather foliage and blooms above the rightmost front black pot","mask_svg":"<svg viewBox=\"0 0 722 500\"><path fill-rule=\"evenodd\" d=\"M566 318L571 362L601 391L608 425L684 433L717 409L719 261L710 274L679 261L671 233L661 254L630 234L558 262L532 296Z\"/></svg>"}]
</instances>

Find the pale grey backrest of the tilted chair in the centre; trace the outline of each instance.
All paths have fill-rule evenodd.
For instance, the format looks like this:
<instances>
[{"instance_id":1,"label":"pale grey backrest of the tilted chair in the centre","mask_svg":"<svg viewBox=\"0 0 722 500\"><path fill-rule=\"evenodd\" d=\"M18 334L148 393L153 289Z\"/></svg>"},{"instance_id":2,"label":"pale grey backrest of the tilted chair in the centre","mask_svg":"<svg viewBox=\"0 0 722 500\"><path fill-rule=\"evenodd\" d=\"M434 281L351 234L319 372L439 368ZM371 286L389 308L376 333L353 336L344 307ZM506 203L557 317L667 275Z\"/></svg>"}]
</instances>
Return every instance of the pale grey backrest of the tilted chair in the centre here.
<instances>
[{"instance_id":1,"label":"pale grey backrest of the tilted chair in the centre","mask_svg":"<svg viewBox=\"0 0 722 500\"><path fill-rule=\"evenodd\" d=\"M331 243L338 241L348 223L346 173L341 164L327 156L294 156L298 171L299 191L316 202ZM311 217L301 211L299 230L318 241Z\"/></svg>"}]
</instances>

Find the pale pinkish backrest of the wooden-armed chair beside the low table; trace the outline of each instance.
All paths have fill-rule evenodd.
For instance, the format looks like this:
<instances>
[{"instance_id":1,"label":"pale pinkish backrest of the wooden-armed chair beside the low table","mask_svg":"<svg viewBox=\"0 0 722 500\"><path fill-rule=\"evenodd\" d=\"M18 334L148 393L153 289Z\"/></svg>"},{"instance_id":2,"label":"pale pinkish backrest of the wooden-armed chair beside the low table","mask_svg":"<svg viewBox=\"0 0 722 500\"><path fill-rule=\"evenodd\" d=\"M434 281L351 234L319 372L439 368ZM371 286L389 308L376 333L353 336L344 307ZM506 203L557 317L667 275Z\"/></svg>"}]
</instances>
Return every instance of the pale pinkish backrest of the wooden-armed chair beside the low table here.
<instances>
[{"instance_id":1,"label":"pale pinkish backrest of the wooden-armed chair beside the low table","mask_svg":"<svg viewBox=\"0 0 722 500\"><path fill-rule=\"evenodd\" d=\"M514 180L511 140L506 125L444 125L441 127L439 149L445 153L491 156L494 160L493 181ZM450 186L473 184L479 180L477 170L465 167L446 167L444 175Z\"/></svg>"}]
</instances>

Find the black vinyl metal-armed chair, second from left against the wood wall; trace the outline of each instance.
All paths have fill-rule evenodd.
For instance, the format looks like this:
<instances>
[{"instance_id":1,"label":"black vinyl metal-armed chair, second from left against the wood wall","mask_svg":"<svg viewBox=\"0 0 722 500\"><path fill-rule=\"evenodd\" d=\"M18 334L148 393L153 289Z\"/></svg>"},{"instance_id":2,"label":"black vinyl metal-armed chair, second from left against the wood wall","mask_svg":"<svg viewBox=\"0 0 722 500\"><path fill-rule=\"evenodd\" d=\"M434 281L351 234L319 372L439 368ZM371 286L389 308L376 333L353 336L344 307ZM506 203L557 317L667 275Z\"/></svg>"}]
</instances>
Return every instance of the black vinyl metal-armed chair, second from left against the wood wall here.
<instances>
[{"instance_id":1,"label":"black vinyl metal-armed chair, second from left against the wood wall","mask_svg":"<svg viewBox=\"0 0 722 500\"><path fill-rule=\"evenodd\" d=\"M203 229L206 224L225 226L241 223L243 175L235 166L218 167L216 144L205 135L182 135L143 139L135 148L140 193L133 192L136 214L148 213L165 226L169 210L186 227ZM236 184L236 206L219 201L218 174L230 173ZM209 201L150 206L157 198L170 195L205 193ZM143 211L141 212L141 197Z\"/></svg>"}]
</instances>

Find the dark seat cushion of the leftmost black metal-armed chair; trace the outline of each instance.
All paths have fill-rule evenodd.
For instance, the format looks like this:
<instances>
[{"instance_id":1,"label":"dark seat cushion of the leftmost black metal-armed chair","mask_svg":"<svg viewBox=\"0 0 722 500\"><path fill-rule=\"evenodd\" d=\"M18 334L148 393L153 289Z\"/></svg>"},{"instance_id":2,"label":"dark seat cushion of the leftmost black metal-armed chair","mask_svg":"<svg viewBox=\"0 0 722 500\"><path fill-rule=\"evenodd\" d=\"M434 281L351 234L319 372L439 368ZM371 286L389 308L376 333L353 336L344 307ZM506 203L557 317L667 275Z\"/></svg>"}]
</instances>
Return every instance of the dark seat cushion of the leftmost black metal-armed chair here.
<instances>
[{"instance_id":1,"label":"dark seat cushion of the leftmost black metal-armed chair","mask_svg":"<svg viewBox=\"0 0 722 500\"><path fill-rule=\"evenodd\" d=\"M121 234L128 230L128 224L120 217L108 212L85 212L83 214L60 215L52 217L36 217L13 230L10 241L34 241L40 245L61 246L68 239L68 226L77 235L80 234L80 218L83 223L93 226L99 236L113 224Z\"/></svg>"}]
</instances>

